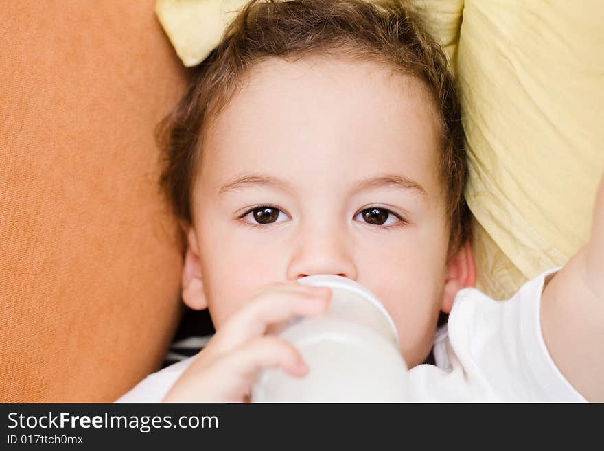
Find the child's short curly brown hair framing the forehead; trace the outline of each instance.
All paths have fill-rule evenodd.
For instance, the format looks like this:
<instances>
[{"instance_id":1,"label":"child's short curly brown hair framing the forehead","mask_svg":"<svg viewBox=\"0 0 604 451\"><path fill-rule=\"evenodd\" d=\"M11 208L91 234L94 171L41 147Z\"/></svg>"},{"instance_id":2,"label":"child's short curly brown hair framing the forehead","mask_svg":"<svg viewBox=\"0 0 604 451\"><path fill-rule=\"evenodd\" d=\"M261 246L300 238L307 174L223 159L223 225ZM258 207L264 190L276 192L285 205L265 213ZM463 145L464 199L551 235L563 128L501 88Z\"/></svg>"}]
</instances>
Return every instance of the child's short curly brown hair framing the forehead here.
<instances>
[{"instance_id":1,"label":"child's short curly brown hair framing the forehead","mask_svg":"<svg viewBox=\"0 0 604 451\"><path fill-rule=\"evenodd\" d=\"M241 88L248 69L270 57L327 54L375 60L428 88L441 122L439 179L450 226L448 260L469 237L463 196L467 162L461 111L441 45L399 1L252 0L195 69L176 108L159 124L160 186L181 224L192 224L191 192L203 132Z\"/></svg>"}]
</instances>

